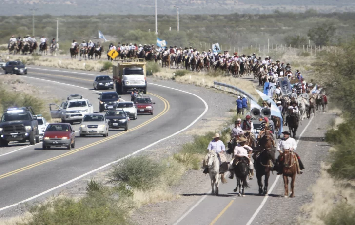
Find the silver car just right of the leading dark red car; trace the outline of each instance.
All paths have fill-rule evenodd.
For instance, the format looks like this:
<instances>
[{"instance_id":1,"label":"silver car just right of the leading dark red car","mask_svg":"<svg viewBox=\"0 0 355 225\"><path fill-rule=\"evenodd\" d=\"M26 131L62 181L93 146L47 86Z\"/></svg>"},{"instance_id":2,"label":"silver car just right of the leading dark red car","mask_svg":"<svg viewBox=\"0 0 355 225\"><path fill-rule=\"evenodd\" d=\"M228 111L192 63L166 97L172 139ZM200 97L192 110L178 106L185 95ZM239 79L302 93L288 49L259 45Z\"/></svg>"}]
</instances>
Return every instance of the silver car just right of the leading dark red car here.
<instances>
[{"instance_id":1,"label":"silver car just right of the leading dark red car","mask_svg":"<svg viewBox=\"0 0 355 225\"><path fill-rule=\"evenodd\" d=\"M86 135L108 136L108 121L101 113L90 113L84 116L80 124L80 137Z\"/></svg>"}]
</instances>

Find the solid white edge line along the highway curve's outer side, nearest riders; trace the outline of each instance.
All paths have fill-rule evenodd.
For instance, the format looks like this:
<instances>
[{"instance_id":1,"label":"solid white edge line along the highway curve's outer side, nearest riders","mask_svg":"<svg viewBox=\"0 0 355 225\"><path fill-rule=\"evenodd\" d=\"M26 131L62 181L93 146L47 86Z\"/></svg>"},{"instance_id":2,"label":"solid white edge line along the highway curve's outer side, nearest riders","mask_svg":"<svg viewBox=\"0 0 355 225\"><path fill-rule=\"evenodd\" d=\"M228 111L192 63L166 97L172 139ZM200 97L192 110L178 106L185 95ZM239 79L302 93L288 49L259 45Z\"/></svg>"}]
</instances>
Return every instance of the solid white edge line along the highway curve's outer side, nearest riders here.
<instances>
[{"instance_id":1,"label":"solid white edge line along the highway curve's outer side, nearest riders","mask_svg":"<svg viewBox=\"0 0 355 225\"><path fill-rule=\"evenodd\" d=\"M162 142L162 141L164 141L164 140L166 140L166 139L169 139L169 138L171 138L171 137L173 137L173 136L175 136L175 135L177 135L177 134L179 134L179 133L181 133L181 132L183 132L183 131L189 129L189 128L190 128L191 126L193 126L200 118L202 118L202 116L204 116L204 115L206 114L206 112L208 111L207 102L206 102L205 100L203 100L200 96L196 95L196 94L193 94L193 93L190 93L190 92L186 92L186 91L182 91L182 90L179 90L179 89L176 89L176 88L171 88L171 87L167 87L167 86L158 85L158 84L154 84L154 85L157 85L157 86L159 86L159 87L168 88L168 89L177 90L177 91L180 91L180 92L183 92L183 93L187 93L187 94L191 94L191 95L193 95L193 96L196 96L196 97L197 97L198 99L200 99L200 100L203 102L203 104L205 105L205 110L204 110L204 111L202 112L202 114L200 114L191 124L189 124L187 127L183 128L183 129L181 129L180 131L177 131L177 132L175 132L175 133L173 133L173 134L171 134L171 135L169 135L169 136L167 136L167 137L164 137L164 138L162 138L162 139L160 139L160 140L158 140L158 141L156 141L156 142L154 142L154 143L152 143L152 144L150 144L150 145L148 145L148 146L146 146L146 147L144 147L144 148L142 148L142 149L140 149L140 150L137 150L137 151L135 151L135 152L133 152L133 153L131 153L131 154L129 154L129 155L126 155L126 156L123 157L123 158L120 158L120 159L118 159L118 160L116 160L116 161L113 161L113 162L111 162L111 163L108 163L108 164L106 164L106 165L103 165L102 167L99 167L99 168L97 168L97 169L94 169L94 170L91 170L91 171L89 171L89 172L87 172L87 173L84 173L84 174L80 175L79 177L76 177L76 178L74 178L74 179L72 179L72 180L70 180L70 181L67 181L67 182L65 182L65 183L63 183L63 184L60 184L60 185L58 185L58 186L56 186L56 187L50 188L50 189L48 189L48 190L46 190L46 191L44 191L44 192L42 192L42 193L39 193L38 195L35 195L35 196L32 196L32 197L30 197L30 198L28 198L28 199L22 200L22 201L20 201L20 202L18 202L18 203L14 203L14 204L12 204L12 205L10 205L10 206L2 207L2 208L0 208L0 211L3 211L3 210L5 210L5 209L11 208L11 207L13 207L13 206L18 206L18 205L20 205L20 204L22 204L22 203L31 201L31 200L33 200L33 199L35 199L35 198L38 198L38 197L40 197L40 196L42 196L42 195L45 195L45 194L51 192L51 191L53 191L53 190L56 190L56 189L58 189L58 188L60 188L60 187L63 187L63 186L65 186L65 185L67 185L67 184L70 184L70 183L72 183L72 182L74 182L74 181L77 181L77 180L79 180L79 179L81 179L81 178L83 178L83 177L85 177L85 176L87 176L87 175L89 175L89 174L91 174L91 173L94 173L94 172L96 172L96 171L99 171L100 169L106 168L106 167L110 166L111 164L118 163L119 161L121 161L121 160L123 160L123 159L125 159L125 158L128 158L128 157L131 157L131 156L133 156L133 155L135 155L135 154L137 154L137 153L139 153L139 152L141 152L141 151L143 151L143 150L146 150L146 149L148 149L148 148L150 148L150 147L152 147L152 146L158 144L159 142Z\"/></svg>"}]
</instances>

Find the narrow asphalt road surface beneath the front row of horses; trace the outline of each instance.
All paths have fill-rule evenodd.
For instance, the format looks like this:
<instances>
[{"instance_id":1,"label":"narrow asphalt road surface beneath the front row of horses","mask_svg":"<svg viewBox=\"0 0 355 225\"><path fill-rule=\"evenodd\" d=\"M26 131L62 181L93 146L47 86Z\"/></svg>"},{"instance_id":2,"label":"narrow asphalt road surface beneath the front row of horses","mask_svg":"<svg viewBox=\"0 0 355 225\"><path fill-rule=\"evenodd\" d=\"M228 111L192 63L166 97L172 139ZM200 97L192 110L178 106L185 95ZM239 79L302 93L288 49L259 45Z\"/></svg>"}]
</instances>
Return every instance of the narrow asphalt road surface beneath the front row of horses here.
<instances>
[{"instance_id":1,"label":"narrow asphalt road surface beneath the front row of horses","mask_svg":"<svg viewBox=\"0 0 355 225\"><path fill-rule=\"evenodd\" d=\"M307 187L299 187L304 176L311 176L312 166L314 161L312 159L308 160L309 152L313 151L316 148L316 141L322 141L322 135L319 135L319 130L317 130L318 125L327 123L325 121L329 117L326 117L326 114L316 113L315 117L311 117L311 120L304 120L301 122L295 140L297 141L297 152L299 153L303 162L305 162L305 170L302 175L296 175L295 183L295 193L297 198L297 185L298 189L302 188L302 196L298 195L298 198L304 197L303 193L310 185ZM285 127L288 130L288 128ZM276 157L279 154L276 152ZM313 156L312 156L313 157ZM316 154L315 156L316 157ZM307 170L308 168L308 170ZM227 174L227 173L226 173ZM228 173L229 175L229 173ZM245 189L245 197L239 197L237 193L233 192L233 189L237 186L236 178L233 180L228 179L227 184L219 185L219 196L211 196L210 192L205 194L196 193L196 195L201 195L201 198L192 206L189 207L186 212L179 217L174 225L251 225L256 224L256 221L261 219L258 217L260 214L263 214L265 209L268 209L268 204L271 199L276 199L277 197L282 198L279 200L279 204L284 204L283 202L283 179L282 176L277 176L276 172L270 174L269 178L269 187L268 187L268 196L258 195L258 185L256 179L256 173L254 171L254 179L249 180L249 189ZM303 176L303 177L300 177ZM264 180L263 180L264 183ZM302 182L301 182L302 183ZM276 189L281 189L276 193ZM239 192L239 191L238 191ZM298 194L301 194L298 192ZM285 199L285 201L292 202L296 199ZM275 202L275 201L274 201ZM269 210L270 211L270 210ZM276 211L273 213L277 214ZM296 212L295 212L296 213ZM273 214L269 214L271 217ZM263 220L261 220L263 221ZM269 224L270 220L267 222L264 220L261 224ZM259 224L259 223L258 223Z\"/></svg>"}]
</instances>

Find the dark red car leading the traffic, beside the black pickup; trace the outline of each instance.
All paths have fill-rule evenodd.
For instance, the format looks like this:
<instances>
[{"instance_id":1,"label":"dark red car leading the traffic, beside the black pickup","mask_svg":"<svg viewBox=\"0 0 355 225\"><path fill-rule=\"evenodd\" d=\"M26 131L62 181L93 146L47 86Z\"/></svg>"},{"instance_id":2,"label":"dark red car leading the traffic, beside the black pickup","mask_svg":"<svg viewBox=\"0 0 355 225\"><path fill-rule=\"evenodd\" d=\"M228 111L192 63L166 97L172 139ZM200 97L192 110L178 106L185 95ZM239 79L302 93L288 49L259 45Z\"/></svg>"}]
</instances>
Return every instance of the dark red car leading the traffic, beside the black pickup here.
<instances>
[{"instance_id":1,"label":"dark red car leading the traffic, beside the black pickup","mask_svg":"<svg viewBox=\"0 0 355 225\"><path fill-rule=\"evenodd\" d=\"M75 130L69 123L51 123L48 124L43 135L42 148L51 147L75 148Z\"/></svg>"}]
</instances>

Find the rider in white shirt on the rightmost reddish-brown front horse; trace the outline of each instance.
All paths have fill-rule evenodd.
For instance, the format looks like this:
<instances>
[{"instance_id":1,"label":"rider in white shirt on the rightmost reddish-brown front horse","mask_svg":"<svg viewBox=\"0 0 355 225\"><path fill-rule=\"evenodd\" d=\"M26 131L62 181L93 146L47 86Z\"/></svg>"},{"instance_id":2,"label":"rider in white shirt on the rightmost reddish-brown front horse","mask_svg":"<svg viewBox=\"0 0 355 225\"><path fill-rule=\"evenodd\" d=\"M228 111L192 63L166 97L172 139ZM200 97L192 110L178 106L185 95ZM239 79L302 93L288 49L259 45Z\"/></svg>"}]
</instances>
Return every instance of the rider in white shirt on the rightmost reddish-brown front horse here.
<instances>
[{"instance_id":1,"label":"rider in white shirt on the rightmost reddish-brown front horse","mask_svg":"<svg viewBox=\"0 0 355 225\"><path fill-rule=\"evenodd\" d=\"M299 155L295 152L295 150L297 149L297 143L295 141L295 139L293 139L292 137L290 137L290 132L289 131L283 131L283 138L278 142L277 144L277 150L278 152L280 152L280 156L278 157L278 159L276 160L275 166L274 166L274 170L277 171L277 175L281 175L282 174L282 166L280 166L280 161L281 161L281 154L282 154L282 150L290 150L291 152L293 152L297 159L298 159L298 163L299 163L299 169L303 170L304 166L303 163L301 161L301 158L299 157ZM303 172L301 171L301 174Z\"/></svg>"}]
</instances>

